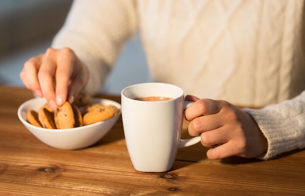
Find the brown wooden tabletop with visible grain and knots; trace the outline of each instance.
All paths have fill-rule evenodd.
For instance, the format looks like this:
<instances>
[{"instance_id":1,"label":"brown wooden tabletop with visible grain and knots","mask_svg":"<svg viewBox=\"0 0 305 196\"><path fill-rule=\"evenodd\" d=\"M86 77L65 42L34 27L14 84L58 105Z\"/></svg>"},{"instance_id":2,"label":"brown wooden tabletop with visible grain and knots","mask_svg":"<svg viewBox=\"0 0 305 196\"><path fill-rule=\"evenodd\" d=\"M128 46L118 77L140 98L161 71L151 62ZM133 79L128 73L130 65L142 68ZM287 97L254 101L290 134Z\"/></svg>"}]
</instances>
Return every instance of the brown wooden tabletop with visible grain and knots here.
<instances>
[{"instance_id":1,"label":"brown wooden tabletop with visible grain and knots","mask_svg":"<svg viewBox=\"0 0 305 196\"><path fill-rule=\"evenodd\" d=\"M269 161L209 160L198 143L179 149L171 171L141 173L129 158L121 118L94 146L58 150L19 121L17 109L30 98L29 90L0 86L0 195L305 195L305 151Z\"/></svg>"}]
</instances>

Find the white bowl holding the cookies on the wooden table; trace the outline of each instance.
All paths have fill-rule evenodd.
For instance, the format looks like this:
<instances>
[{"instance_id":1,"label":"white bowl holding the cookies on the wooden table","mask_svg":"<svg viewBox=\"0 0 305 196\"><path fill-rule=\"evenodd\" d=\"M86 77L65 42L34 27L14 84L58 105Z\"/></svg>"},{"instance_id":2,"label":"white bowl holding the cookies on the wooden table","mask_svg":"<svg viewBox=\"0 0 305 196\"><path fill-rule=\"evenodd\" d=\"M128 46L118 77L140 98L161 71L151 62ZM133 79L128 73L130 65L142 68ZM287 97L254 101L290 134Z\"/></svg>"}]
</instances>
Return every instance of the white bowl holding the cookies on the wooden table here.
<instances>
[{"instance_id":1,"label":"white bowl holding the cookies on the wooden table","mask_svg":"<svg viewBox=\"0 0 305 196\"><path fill-rule=\"evenodd\" d=\"M58 149L76 150L95 144L104 137L114 126L121 114L121 105L113 100L92 98L93 103L102 103L105 105L114 105L120 112L113 118L94 124L85 125L71 129L45 129L34 126L27 122L26 113L28 110L38 109L46 103L44 98L33 98L22 103L18 108L18 118L24 126L40 141Z\"/></svg>"}]
</instances>

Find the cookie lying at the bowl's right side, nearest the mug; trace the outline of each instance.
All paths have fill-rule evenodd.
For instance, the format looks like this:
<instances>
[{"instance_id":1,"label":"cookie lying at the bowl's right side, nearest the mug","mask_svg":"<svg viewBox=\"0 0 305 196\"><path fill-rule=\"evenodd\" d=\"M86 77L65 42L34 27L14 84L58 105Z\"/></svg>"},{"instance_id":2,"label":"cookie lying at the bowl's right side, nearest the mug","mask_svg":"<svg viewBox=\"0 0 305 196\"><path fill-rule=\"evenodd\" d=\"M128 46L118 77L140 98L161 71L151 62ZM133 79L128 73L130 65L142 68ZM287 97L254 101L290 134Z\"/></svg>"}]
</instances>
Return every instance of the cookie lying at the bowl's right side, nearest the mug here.
<instances>
[{"instance_id":1,"label":"cookie lying at the bowl's right side, nearest the mug","mask_svg":"<svg viewBox=\"0 0 305 196\"><path fill-rule=\"evenodd\" d=\"M95 104L95 108L92 110L88 110L88 112L83 117L84 125L93 124L95 122L104 121L109 118L116 116L119 113L119 109L114 105L97 105Z\"/></svg>"}]
</instances>

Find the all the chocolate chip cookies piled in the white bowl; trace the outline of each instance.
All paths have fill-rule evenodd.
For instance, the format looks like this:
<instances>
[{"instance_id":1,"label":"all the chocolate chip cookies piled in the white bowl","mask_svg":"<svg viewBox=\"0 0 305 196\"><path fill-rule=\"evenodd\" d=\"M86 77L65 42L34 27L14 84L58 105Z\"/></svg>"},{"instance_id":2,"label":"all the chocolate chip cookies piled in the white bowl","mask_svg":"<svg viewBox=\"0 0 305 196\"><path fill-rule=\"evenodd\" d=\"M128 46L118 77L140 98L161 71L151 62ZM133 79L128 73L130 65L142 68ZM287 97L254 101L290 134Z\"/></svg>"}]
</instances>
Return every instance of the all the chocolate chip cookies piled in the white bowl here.
<instances>
[{"instance_id":1,"label":"all the chocolate chip cookies piled in the white bowl","mask_svg":"<svg viewBox=\"0 0 305 196\"><path fill-rule=\"evenodd\" d=\"M47 129L69 129L107 120L119 111L114 105L93 104L89 95L80 94L72 104L66 101L56 111L48 104L40 107L38 112L29 110L27 121Z\"/></svg>"}]
</instances>

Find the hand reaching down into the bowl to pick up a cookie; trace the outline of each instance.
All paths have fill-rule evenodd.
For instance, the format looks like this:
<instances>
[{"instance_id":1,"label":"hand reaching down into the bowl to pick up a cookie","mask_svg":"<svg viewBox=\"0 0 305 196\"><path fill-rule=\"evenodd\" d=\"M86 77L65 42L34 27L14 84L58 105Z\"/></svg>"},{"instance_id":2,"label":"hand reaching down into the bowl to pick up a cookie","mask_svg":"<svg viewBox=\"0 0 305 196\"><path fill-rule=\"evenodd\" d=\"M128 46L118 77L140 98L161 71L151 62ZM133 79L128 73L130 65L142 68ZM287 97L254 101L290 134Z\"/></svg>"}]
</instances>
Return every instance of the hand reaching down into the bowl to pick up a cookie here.
<instances>
[{"instance_id":1,"label":"hand reaching down into the bowl to pick up a cookie","mask_svg":"<svg viewBox=\"0 0 305 196\"><path fill-rule=\"evenodd\" d=\"M73 101L84 87L88 73L71 49L48 48L24 63L20 78L28 89L57 109L66 100Z\"/></svg>"}]
</instances>

